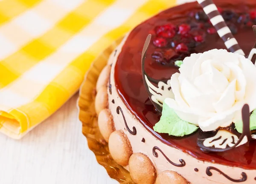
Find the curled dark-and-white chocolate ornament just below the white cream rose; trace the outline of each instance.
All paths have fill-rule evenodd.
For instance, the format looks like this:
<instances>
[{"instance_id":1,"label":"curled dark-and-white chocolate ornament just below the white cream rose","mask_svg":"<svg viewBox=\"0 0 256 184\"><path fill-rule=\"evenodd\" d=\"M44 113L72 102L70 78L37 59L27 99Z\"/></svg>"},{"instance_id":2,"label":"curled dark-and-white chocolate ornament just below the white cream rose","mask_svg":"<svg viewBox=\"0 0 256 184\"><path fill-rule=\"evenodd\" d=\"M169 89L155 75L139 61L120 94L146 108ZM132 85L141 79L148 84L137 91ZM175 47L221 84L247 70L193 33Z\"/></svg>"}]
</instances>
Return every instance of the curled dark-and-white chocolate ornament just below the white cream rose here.
<instances>
[{"instance_id":1,"label":"curled dark-and-white chocolate ornament just below the white cream rose","mask_svg":"<svg viewBox=\"0 0 256 184\"><path fill-rule=\"evenodd\" d=\"M250 131L250 109L249 109L248 104L244 104L244 106L242 108L242 121L243 121L243 132L242 132L241 136L239 137L239 140L236 142L236 144L234 146L226 147L225 149L204 146L204 141L207 138L211 138L211 137L215 136L218 133L219 130L218 131L211 131L211 132L202 132L202 131L200 131L199 136L198 136L198 141L197 141L198 146L202 149L202 151L224 152L224 151L227 151L227 150L232 150L233 148L238 146L241 143L241 141L244 139L245 136L247 137L248 141L253 140L252 135L251 135L251 131ZM228 128L228 129L226 129L226 131L231 132L232 128ZM234 131L234 127L233 127L233 131ZM233 142L234 142L234 137L232 137L232 138L233 138ZM212 140L212 142L213 141L218 141L219 139L221 139L221 137ZM227 141L227 139L224 139L222 144L224 144L225 141Z\"/></svg>"}]
</instances>

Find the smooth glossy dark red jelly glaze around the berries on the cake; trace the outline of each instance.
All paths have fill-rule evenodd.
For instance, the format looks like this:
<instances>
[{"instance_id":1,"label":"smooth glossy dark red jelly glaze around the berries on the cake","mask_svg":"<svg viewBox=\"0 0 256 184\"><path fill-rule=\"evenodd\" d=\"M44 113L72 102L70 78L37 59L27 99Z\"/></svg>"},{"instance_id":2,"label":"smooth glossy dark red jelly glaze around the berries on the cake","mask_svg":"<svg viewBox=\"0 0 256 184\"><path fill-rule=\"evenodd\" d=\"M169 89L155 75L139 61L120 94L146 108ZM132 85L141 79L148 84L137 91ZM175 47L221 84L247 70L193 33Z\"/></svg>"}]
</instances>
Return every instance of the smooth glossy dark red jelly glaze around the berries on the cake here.
<instances>
[{"instance_id":1,"label":"smooth glossy dark red jelly glaze around the berries on the cake","mask_svg":"<svg viewBox=\"0 0 256 184\"><path fill-rule=\"evenodd\" d=\"M250 12L256 9L255 0L215 0L221 9L229 9L236 12ZM247 5L244 4L247 3ZM236 6L234 5L236 4ZM154 132L153 126L160 119L158 113L145 91L141 75L141 52L145 38L156 26L173 24L179 26L186 22L189 14L201 10L198 3L187 3L176 6L172 9L161 12L160 14L145 21L137 26L129 35L122 52L120 53L115 67L116 89L120 98L125 103L131 113L163 143L176 147L189 155L202 160L228 166L242 167L245 169L256 169L256 141L251 141L243 146L226 152L202 152L197 146L198 132L185 137L174 137L167 134ZM237 25L237 23L236 23ZM207 29L207 28L206 28ZM156 35L152 35L153 39ZM247 54L254 44L255 37L251 27L238 26L238 33L235 35L241 48ZM192 38L193 40L193 38ZM226 49L223 41L217 34L206 34L203 43L196 46L194 52L204 52L210 49ZM150 44L145 60L145 70L152 78L170 78L172 74L178 72L174 65L164 65L151 58L156 51L156 46ZM164 55L164 54L163 54ZM166 153L168 154L168 153Z\"/></svg>"}]
</instances>

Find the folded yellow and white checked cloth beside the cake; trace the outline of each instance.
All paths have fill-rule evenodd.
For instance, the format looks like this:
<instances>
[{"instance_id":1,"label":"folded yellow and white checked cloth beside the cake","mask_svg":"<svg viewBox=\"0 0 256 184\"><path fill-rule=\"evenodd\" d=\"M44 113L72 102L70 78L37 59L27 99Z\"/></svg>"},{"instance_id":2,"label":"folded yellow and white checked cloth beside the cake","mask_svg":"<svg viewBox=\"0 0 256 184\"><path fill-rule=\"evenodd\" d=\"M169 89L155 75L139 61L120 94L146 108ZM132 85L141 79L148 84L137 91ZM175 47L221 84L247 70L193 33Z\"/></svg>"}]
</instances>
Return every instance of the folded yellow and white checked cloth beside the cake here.
<instances>
[{"instance_id":1,"label":"folded yellow and white checked cloth beside the cake","mask_svg":"<svg viewBox=\"0 0 256 184\"><path fill-rule=\"evenodd\" d=\"M0 0L0 132L21 138L114 40L175 0Z\"/></svg>"}]
</instances>

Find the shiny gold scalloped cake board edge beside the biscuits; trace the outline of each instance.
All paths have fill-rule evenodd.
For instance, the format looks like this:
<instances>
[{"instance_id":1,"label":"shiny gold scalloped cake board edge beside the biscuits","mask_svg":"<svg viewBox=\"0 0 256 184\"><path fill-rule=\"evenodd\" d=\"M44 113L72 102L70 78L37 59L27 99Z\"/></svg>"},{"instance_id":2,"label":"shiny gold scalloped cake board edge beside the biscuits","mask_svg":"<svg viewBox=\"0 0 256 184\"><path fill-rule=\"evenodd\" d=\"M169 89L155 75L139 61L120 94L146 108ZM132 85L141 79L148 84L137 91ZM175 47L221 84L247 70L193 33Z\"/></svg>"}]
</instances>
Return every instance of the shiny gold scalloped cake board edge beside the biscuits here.
<instances>
[{"instance_id":1,"label":"shiny gold scalloped cake board edge beside the biscuits","mask_svg":"<svg viewBox=\"0 0 256 184\"><path fill-rule=\"evenodd\" d=\"M102 52L85 75L78 99L79 119L83 125L82 132L87 138L88 147L94 152L98 163L105 167L108 175L120 184L134 184L129 172L113 161L108 150L108 143L99 132L98 118L94 108L97 79L104 66L108 63L109 56L121 40L122 38L116 40L108 49Z\"/></svg>"}]
</instances>

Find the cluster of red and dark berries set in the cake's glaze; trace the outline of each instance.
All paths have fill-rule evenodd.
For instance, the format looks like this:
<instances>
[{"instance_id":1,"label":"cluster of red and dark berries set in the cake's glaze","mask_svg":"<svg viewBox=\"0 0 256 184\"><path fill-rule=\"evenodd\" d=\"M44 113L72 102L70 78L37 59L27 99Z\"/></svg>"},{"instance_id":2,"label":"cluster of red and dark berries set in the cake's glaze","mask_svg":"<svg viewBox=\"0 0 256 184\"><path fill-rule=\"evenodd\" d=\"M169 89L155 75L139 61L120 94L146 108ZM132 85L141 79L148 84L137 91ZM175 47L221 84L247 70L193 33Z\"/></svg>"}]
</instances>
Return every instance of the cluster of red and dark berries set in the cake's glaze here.
<instances>
[{"instance_id":1,"label":"cluster of red and dark berries set in the cake's glaze","mask_svg":"<svg viewBox=\"0 0 256 184\"><path fill-rule=\"evenodd\" d=\"M218 7L218 10L221 12L224 20L226 20L227 26L233 34L238 32L237 23L239 26L250 27L256 20L256 11L250 11L249 14L247 12L236 13L235 11L221 7ZM177 55L195 53L195 47L204 42L207 34L218 35L204 11L190 11L187 16L188 18L181 23L164 23L163 25L155 26L151 31L154 37L154 46L173 49L172 54L169 55L172 57L165 57L163 53L159 51L154 52L152 58L155 59L157 63L169 65L176 60L183 60L187 55L182 55L183 57L178 57Z\"/></svg>"}]
</instances>

